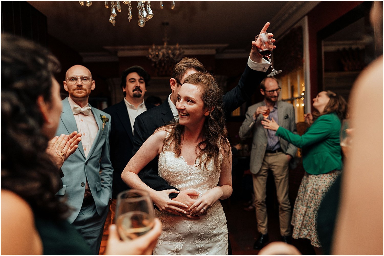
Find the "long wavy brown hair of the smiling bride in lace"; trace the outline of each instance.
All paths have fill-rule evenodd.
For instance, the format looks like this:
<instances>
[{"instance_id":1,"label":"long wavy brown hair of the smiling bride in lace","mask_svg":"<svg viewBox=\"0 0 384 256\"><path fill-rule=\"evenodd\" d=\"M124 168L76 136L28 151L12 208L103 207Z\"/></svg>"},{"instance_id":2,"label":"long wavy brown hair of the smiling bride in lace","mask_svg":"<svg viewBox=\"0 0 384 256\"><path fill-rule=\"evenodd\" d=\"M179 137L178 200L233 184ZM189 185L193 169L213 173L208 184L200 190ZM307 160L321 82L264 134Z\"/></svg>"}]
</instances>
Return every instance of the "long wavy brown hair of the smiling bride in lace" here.
<instances>
[{"instance_id":1,"label":"long wavy brown hair of the smiling bride in lace","mask_svg":"<svg viewBox=\"0 0 384 256\"><path fill-rule=\"evenodd\" d=\"M215 78L209 73L198 72L190 74L187 78L185 78L184 83L199 86L204 107L212 109L204 122L203 140L196 146L199 165L204 163L204 167L206 168L207 163L213 159L216 170L220 171L220 154L222 154L220 149L223 149L224 157L229 157L230 154L230 144L227 140L228 132L225 127L222 92L216 83ZM179 157L181 154L184 126L177 122L176 124L171 124L161 128L170 132L170 135L164 139L163 145L170 145L172 142L175 156ZM205 154L206 156L204 157Z\"/></svg>"}]
</instances>

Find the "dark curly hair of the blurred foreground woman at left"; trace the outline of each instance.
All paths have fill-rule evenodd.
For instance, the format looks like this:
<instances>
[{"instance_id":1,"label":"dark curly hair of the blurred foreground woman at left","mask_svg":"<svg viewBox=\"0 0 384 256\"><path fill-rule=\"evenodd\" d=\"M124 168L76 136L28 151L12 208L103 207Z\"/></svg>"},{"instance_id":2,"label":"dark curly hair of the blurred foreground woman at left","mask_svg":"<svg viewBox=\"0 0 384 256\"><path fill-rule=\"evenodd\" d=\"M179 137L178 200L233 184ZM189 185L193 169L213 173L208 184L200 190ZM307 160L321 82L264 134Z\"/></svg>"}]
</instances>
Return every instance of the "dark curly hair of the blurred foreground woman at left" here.
<instances>
[{"instance_id":1,"label":"dark curly hair of the blurred foreground woman at left","mask_svg":"<svg viewBox=\"0 0 384 256\"><path fill-rule=\"evenodd\" d=\"M1 35L1 179L2 189L22 197L35 215L65 218L68 206L57 166L46 153L43 116L36 100L51 100L53 74L60 63L45 48L22 38Z\"/></svg>"}]
</instances>

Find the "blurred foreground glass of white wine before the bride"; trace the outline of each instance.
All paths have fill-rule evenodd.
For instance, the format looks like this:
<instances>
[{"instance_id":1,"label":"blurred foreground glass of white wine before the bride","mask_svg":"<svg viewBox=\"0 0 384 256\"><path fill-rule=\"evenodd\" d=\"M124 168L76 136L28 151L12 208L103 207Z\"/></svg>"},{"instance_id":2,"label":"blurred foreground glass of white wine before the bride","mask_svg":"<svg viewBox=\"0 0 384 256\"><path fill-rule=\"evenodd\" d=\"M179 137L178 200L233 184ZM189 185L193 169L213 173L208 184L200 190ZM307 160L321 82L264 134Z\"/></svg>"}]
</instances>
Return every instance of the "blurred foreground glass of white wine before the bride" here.
<instances>
[{"instance_id":1,"label":"blurred foreground glass of white wine before the bride","mask_svg":"<svg viewBox=\"0 0 384 256\"><path fill-rule=\"evenodd\" d=\"M123 240L146 234L154 225L154 208L149 193L131 189L118 194L116 225Z\"/></svg>"}]
</instances>

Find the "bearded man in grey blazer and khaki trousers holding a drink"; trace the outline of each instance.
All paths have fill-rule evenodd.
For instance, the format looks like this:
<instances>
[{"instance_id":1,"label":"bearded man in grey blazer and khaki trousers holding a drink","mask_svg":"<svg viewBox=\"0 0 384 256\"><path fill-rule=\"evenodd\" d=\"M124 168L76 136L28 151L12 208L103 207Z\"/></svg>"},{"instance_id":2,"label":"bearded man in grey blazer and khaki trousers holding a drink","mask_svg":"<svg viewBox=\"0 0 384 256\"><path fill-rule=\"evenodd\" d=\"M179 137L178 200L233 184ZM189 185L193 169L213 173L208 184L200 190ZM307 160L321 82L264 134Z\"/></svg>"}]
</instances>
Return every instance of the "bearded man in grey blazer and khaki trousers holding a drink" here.
<instances>
[{"instance_id":1,"label":"bearded man in grey blazer and khaki trousers holding a drink","mask_svg":"<svg viewBox=\"0 0 384 256\"><path fill-rule=\"evenodd\" d=\"M281 88L278 81L265 78L260 84L264 100L250 106L240 127L241 139L253 135L250 157L250 171L253 177L257 229L260 237L253 249L261 249L268 241L268 219L266 213L266 179L271 170L275 179L276 194L279 201L280 234L283 241L289 241L291 234L291 205L288 198L288 165L294 161L297 148L277 137L275 131L264 129L261 121L264 117L274 119L279 126L296 132L295 110L292 104L278 101ZM292 160L292 161L291 161Z\"/></svg>"}]
</instances>

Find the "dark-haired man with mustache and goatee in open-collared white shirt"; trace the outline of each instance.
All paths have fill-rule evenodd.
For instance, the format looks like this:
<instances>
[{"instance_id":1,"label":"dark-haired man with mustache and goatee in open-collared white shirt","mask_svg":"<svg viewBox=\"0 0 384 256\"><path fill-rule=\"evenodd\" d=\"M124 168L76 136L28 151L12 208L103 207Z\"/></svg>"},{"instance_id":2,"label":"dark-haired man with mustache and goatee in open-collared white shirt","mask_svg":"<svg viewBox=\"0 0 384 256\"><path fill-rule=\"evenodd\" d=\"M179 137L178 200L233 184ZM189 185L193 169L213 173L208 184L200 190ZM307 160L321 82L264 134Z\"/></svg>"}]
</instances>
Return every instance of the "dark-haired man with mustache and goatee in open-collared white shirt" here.
<instances>
[{"instance_id":1,"label":"dark-haired man with mustache and goatee in open-collared white shirt","mask_svg":"<svg viewBox=\"0 0 384 256\"><path fill-rule=\"evenodd\" d=\"M151 76L140 66L132 66L123 71L121 76L121 89L124 99L106 109L111 115L111 162L113 166L112 202L110 206L111 218L108 217L106 227L112 223L116 209L118 193L129 189L121 179L121 173L132 157L133 124L136 117L142 112L154 107L144 101L146 87Z\"/></svg>"}]
</instances>

